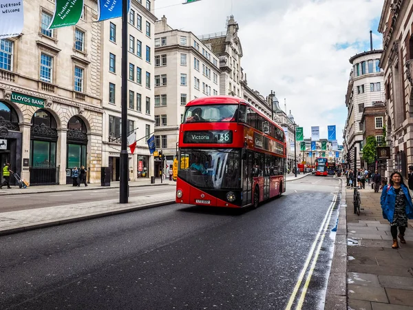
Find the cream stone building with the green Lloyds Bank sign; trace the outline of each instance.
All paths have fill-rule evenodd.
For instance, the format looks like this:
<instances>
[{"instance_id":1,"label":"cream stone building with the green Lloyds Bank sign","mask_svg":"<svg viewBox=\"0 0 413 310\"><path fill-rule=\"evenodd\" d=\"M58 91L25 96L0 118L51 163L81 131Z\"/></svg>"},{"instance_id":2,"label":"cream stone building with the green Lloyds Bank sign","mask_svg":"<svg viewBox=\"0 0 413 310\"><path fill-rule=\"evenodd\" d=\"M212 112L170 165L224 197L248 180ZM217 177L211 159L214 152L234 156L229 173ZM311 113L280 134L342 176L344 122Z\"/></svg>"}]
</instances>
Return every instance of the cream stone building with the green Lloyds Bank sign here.
<instances>
[{"instance_id":1,"label":"cream stone building with the green Lloyds Bank sign","mask_svg":"<svg viewBox=\"0 0 413 310\"><path fill-rule=\"evenodd\" d=\"M0 40L0 163L35 184L66 184L85 165L100 180L100 23L85 0L76 26L47 30L54 3L25 0L19 37ZM27 3L26 3L27 2ZM30 3L30 5L29 5Z\"/></svg>"}]
</instances>

